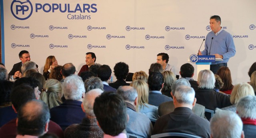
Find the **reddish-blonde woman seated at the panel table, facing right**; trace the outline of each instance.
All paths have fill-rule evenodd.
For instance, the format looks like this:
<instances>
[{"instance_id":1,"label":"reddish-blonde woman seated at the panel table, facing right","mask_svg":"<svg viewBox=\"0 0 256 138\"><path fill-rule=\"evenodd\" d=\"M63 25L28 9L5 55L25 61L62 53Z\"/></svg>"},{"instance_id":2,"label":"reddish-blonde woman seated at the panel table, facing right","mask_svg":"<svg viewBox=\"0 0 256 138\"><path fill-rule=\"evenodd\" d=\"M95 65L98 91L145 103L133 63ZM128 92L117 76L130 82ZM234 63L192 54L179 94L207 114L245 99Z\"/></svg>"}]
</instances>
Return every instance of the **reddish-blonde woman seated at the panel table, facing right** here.
<instances>
[{"instance_id":1,"label":"reddish-blonde woman seated at the panel table, facing right","mask_svg":"<svg viewBox=\"0 0 256 138\"><path fill-rule=\"evenodd\" d=\"M57 66L58 66L58 61L53 55L50 55L49 57L46 58L46 61L44 64L44 71L43 71L45 80L49 79L50 73L52 72L54 67L57 67Z\"/></svg>"}]
</instances>

